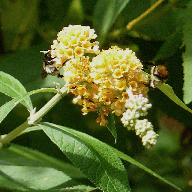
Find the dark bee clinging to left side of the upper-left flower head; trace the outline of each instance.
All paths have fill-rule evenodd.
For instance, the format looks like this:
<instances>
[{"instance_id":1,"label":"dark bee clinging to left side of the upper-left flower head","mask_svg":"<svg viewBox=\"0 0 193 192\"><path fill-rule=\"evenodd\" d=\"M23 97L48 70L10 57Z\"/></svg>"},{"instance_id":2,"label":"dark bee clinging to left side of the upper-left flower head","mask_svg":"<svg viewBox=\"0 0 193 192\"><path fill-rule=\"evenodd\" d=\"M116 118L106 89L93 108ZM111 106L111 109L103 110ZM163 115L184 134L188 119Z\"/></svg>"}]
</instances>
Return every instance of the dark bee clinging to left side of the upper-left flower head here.
<instances>
[{"instance_id":1,"label":"dark bee clinging to left side of the upper-left flower head","mask_svg":"<svg viewBox=\"0 0 193 192\"><path fill-rule=\"evenodd\" d=\"M59 75L58 70L53 65L53 59L51 58L50 50L41 51L44 53L43 68L41 72L42 78L46 78L47 75Z\"/></svg>"}]
</instances>

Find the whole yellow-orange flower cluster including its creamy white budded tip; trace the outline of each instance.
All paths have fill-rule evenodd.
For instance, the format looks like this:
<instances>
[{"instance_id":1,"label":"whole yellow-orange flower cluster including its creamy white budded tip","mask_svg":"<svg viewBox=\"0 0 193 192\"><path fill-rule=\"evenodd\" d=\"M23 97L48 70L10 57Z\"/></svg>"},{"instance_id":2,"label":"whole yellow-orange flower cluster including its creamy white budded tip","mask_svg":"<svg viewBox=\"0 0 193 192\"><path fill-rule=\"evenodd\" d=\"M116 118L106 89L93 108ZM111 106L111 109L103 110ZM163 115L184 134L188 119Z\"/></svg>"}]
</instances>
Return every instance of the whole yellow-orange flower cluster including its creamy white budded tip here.
<instances>
[{"instance_id":1,"label":"whole yellow-orange flower cluster including its creamy white budded tip","mask_svg":"<svg viewBox=\"0 0 193 192\"><path fill-rule=\"evenodd\" d=\"M96 37L87 26L64 27L51 46L53 66L74 95L73 103L82 106L83 115L97 112L97 123L106 126L113 113L144 146L154 145L158 135L147 119L141 119L151 107L149 78L142 63L130 49L114 46L100 51Z\"/></svg>"}]
</instances>

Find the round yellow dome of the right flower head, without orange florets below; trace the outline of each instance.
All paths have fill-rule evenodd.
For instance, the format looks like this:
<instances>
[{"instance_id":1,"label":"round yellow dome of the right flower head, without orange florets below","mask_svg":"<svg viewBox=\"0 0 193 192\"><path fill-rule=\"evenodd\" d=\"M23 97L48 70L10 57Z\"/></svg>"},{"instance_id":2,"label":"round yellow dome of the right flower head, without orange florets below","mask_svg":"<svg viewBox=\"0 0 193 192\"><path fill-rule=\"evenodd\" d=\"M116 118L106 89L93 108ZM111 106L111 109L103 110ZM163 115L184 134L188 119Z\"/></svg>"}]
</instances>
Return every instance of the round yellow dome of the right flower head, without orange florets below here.
<instances>
[{"instance_id":1,"label":"round yellow dome of the right flower head, without orange florets below","mask_svg":"<svg viewBox=\"0 0 193 192\"><path fill-rule=\"evenodd\" d=\"M93 58L91 77L101 88L124 91L131 86L136 92L143 92L147 76L142 68L133 51L114 46Z\"/></svg>"}]
</instances>

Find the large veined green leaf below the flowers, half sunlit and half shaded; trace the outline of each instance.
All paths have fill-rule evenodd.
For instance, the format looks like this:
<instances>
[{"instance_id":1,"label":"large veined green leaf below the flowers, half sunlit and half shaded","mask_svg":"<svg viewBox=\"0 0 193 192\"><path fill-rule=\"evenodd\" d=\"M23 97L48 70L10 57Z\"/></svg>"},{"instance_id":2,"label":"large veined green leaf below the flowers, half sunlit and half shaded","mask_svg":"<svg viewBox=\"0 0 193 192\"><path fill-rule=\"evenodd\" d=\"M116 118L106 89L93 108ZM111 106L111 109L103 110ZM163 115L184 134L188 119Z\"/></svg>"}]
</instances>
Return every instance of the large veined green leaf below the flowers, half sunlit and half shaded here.
<instances>
[{"instance_id":1,"label":"large veined green leaf below the flowers, half sunlit and half shaded","mask_svg":"<svg viewBox=\"0 0 193 192\"><path fill-rule=\"evenodd\" d=\"M108 145L63 126L51 123L39 126L72 163L101 190L130 191L126 170Z\"/></svg>"}]
</instances>

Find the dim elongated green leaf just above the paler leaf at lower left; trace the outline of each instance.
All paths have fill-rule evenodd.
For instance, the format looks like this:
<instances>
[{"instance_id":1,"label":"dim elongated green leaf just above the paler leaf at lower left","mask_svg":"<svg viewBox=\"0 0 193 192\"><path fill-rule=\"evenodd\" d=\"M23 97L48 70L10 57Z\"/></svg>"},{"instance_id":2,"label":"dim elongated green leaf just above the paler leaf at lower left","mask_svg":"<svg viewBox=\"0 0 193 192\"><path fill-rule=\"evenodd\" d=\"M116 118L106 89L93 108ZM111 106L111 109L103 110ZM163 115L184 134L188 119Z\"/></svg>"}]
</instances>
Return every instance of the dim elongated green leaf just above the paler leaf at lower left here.
<instances>
[{"instance_id":1,"label":"dim elongated green leaf just above the paler leaf at lower left","mask_svg":"<svg viewBox=\"0 0 193 192\"><path fill-rule=\"evenodd\" d=\"M71 178L85 176L74 166L27 147L12 144L0 150L0 165L41 166L64 172Z\"/></svg>"}]
</instances>

